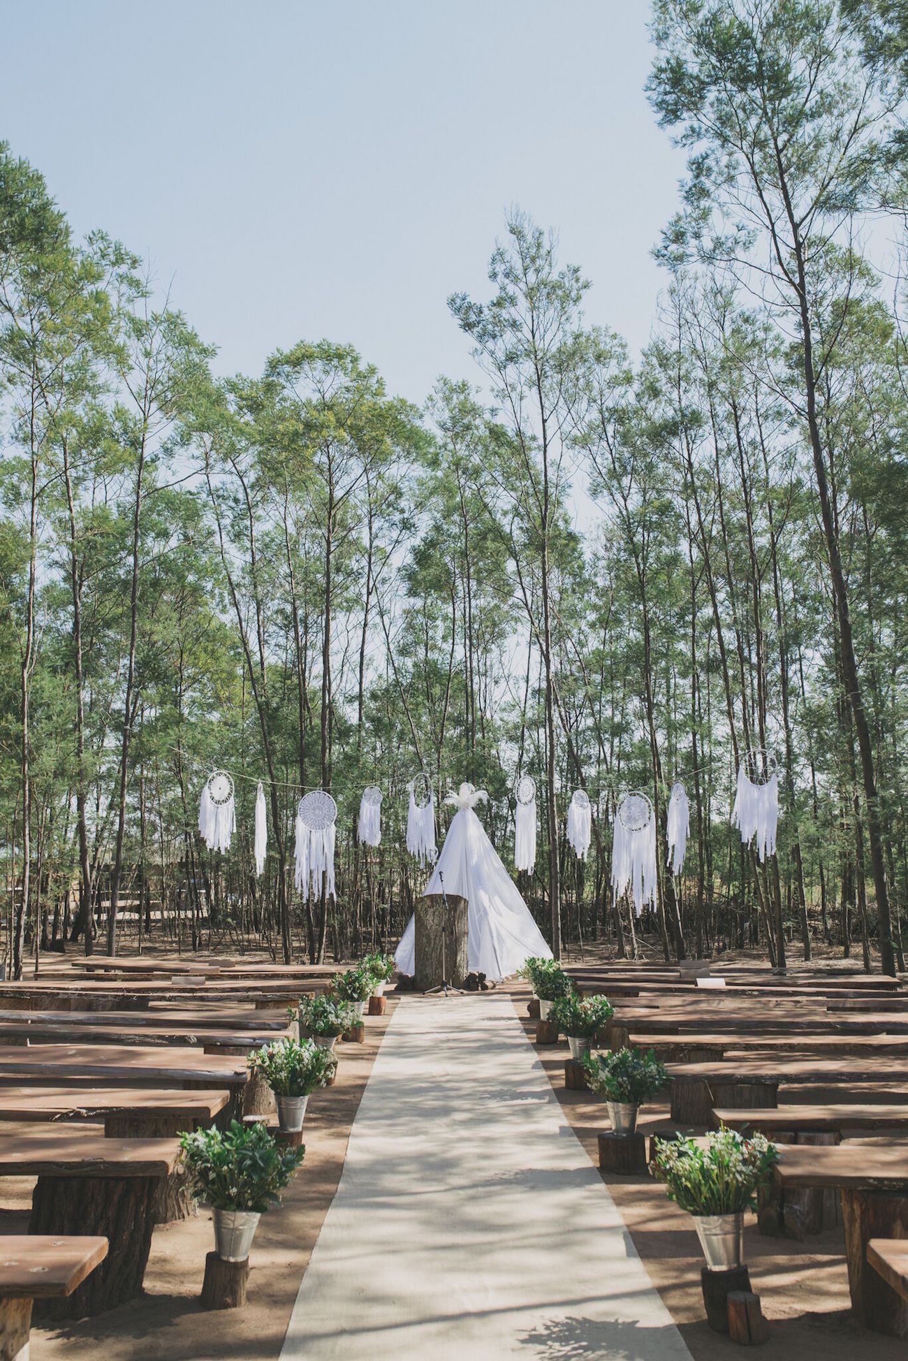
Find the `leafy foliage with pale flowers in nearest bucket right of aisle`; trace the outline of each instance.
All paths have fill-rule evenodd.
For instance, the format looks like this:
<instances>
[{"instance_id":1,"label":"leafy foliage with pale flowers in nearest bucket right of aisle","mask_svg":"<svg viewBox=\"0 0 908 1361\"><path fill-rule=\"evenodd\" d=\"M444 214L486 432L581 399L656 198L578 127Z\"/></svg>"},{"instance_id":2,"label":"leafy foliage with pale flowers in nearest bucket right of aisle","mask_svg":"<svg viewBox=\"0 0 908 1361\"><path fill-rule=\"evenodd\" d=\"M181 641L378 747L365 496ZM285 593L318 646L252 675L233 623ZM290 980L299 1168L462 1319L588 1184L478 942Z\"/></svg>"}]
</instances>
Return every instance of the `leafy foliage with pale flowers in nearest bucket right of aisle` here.
<instances>
[{"instance_id":1,"label":"leafy foliage with pale flowers in nearest bucket right of aisle","mask_svg":"<svg viewBox=\"0 0 908 1361\"><path fill-rule=\"evenodd\" d=\"M757 1207L777 1160L765 1135L745 1139L723 1127L705 1139L656 1139L653 1173L689 1214L736 1214Z\"/></svg>"}]
</instances>

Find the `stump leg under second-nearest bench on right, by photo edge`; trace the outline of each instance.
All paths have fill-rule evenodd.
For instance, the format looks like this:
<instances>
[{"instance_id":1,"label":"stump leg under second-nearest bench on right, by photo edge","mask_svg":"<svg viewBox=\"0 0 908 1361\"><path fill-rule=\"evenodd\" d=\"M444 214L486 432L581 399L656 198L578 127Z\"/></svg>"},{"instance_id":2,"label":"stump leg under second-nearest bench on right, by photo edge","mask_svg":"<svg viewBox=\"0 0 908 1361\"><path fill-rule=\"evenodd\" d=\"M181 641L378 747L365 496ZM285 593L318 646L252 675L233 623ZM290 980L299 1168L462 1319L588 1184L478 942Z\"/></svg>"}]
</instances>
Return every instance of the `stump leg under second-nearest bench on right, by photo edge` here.
<instances>
[{"instance_id":1,"label":"stump leg under second-nearest bench on right, by photo edge","mask_svg":"<svg viewBox=\"0 0 908 1361\"><path fill-rule=\"evenodd\" d=\"M908 1301L867 1262L870 1239L908 1237L908 1196L894 1191L841 1192L848 1289L855 1317L866 1328L908 1337Z\"/></svg>"}]
</instances>

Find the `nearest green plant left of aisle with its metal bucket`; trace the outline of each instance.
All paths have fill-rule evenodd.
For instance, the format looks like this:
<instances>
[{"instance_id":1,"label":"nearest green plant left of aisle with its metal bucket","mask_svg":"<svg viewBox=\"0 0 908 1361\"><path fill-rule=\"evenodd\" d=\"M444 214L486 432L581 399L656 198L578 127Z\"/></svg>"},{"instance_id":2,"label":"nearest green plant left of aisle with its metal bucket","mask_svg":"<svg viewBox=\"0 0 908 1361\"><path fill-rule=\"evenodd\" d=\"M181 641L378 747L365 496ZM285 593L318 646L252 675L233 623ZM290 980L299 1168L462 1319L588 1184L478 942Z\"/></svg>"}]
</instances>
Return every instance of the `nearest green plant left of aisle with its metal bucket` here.
<instances>
[{"instance_id":1,"label":"nearest green plant left of aisle with its metal bucket","mask_svg":"<svg viewBox=\"0 0 908 1361\"><path fill-rule=\"evenodd\" d=\"M245 1262L259 1219L280 1200L305 1149L279 1147L264 1124L184 1134L182 1158L197 1196L211 1206L215 1251Z\"/></svg>"}]
</instances>

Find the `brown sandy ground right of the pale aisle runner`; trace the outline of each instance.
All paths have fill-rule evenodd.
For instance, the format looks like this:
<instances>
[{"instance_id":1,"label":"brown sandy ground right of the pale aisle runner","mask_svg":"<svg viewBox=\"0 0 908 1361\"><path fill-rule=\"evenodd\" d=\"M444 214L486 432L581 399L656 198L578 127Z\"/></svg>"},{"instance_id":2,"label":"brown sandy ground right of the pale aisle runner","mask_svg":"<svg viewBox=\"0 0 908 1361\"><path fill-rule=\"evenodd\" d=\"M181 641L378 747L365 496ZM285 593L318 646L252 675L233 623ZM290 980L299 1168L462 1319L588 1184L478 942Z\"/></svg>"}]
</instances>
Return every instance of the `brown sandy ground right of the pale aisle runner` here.
<instances>
[{"instance_id":1,"label":"brown sandy ground right of the pale aisle runner","mask_svg":"<svg viewBox=\"0 0 908 1361\"><path fill-rule=\"evenodd\" d=\"M527 989L513 989L515 1010L527 1033L535 1036L535 1021L527 1018L528 999ZM538 1047L536 1053L565 1120L598 1166L596 1135L609 1128L604 1098L589 1092L566 1090L566 1043ZM668 1109L648 1105L640 1115L638 1128L648 1134L664 1124ZM702 1253L690 1217L648 1175L600 1176L694 1361L717 1361L720 1357L728 1361L732 1351L738 1356L739 1349L727 1337L713 1332L705 1322L700 1289ZM769 1342L758 1351L762 1361L904 1361L904 1342L870 1332L851 1319L841 1229L829 1229L806 1243L795 1243L791 1239L764 1237L757 1232L756 1215L749 1215L745 1256L751 1288L760 1294L762 1312L771 1324Z\"/></svg>"}]
</instances>

